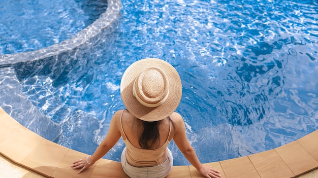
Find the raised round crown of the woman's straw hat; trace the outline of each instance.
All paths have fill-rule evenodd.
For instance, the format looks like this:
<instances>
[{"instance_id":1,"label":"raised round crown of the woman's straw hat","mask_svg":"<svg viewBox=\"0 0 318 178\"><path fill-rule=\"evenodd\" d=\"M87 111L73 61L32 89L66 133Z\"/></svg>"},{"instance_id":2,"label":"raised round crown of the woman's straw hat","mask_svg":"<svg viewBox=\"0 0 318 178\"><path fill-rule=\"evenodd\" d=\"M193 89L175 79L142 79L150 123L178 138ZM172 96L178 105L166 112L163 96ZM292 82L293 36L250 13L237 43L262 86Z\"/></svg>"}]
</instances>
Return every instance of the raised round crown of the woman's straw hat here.
<instances>
[{"instance_id":1,"label":"raised round crown of the woman's straw hat","mask_svg":"<svg viewBox=\"0 0 318 178\"><path fill-rule=\"evenodd\" d=\"M145 68L136 78L134 95L150 108L161 105L169 95L169 80L160 68Z\"/></svg>"}]
</instances>

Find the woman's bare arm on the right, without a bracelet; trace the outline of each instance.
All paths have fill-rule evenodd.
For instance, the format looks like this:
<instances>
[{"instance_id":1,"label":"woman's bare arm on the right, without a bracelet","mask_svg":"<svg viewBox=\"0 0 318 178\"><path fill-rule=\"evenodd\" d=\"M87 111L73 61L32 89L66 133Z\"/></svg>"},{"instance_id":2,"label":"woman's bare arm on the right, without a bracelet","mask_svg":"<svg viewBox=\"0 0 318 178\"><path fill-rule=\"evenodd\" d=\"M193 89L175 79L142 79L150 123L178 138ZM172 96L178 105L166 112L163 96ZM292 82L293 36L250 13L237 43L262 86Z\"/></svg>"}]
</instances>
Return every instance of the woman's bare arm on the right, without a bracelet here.
<instances>
[{"instance_id":1,"label":"woman's bare arm on the right, without a bracelet","mask_svg":"<svg viewBox=\"0 0 318 178\"><path fill-rule=\"evenodd\" d=\"M215 170L206 164L202 164L199 161L195 150L190 145L186 137L185 125L181 115L173 113L171 115L171 119L175 123L175 134L173 136L174 143L177 145L184 157L205 177L221 177L218 170Z\"/></svg>"}]
</instances>

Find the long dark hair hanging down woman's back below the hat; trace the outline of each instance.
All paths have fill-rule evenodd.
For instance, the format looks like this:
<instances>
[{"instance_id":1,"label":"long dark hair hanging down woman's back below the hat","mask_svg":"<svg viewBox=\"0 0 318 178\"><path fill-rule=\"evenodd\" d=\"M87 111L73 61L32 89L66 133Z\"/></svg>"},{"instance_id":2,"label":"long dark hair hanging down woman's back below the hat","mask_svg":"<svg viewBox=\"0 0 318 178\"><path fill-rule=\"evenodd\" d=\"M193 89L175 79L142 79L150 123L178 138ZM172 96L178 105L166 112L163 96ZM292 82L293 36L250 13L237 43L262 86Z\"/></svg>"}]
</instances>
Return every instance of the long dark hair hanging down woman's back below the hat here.
<instances>
[{"instance_id":1,"label":"long dark hair hanging down woman's back below the hat","mask_svg":"<svg viewBox=\"0 0 318 178\"><path fill-rule=\"evenodd\" d=\"M169 121L172 122L172 126L174 127L173 121L169 118ZM153 149L160 147L160 134L159 134L159 126L161 121L147 122L140 120L143 125L143 131L139 137L139 145L142 149Z\"/></svg>"}]
</instances>

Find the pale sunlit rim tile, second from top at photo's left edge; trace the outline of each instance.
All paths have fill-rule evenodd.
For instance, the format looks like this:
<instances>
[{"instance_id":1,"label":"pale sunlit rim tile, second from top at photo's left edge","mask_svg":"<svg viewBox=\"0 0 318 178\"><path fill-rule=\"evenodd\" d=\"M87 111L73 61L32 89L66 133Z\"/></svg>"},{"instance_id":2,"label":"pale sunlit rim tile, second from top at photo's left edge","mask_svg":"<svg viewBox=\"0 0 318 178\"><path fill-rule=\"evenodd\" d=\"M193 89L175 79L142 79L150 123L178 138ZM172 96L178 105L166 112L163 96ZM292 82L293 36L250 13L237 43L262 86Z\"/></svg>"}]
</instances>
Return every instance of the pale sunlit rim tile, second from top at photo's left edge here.
<instances>
[{"instance_id":1,"label":"pale sunlit rim tile, second from top at photo's left edge","mask_svg":"<svg viewBox=\"0 0 318 178\"><path fill-rule=\"evenodd\" d=\"M20 127L0 144L1 152L15 163L20 164L43 139L25 127Z\"/></svg>"}]
</instances>

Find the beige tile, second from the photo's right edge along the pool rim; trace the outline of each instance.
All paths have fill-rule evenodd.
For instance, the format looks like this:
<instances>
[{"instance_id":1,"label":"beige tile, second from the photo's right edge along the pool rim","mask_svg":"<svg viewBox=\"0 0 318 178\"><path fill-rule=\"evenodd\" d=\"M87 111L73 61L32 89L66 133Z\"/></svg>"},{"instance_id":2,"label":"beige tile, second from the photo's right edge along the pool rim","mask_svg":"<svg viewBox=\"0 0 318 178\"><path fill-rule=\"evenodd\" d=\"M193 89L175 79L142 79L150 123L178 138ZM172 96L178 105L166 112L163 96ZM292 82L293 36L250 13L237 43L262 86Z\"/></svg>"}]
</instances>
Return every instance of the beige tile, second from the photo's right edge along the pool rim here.
<instances>
[{"instance_id":1,"label":"beige tile, second from the photo's right edge along the pool rim","mask_svg":"<svg viewBox=\"0 0 318 178\"><path fill-rule=\"evenodd\" d=\"M295 175L318 167L318 162L297 141L275 150Z\"/></svg>"}]
</instances>

